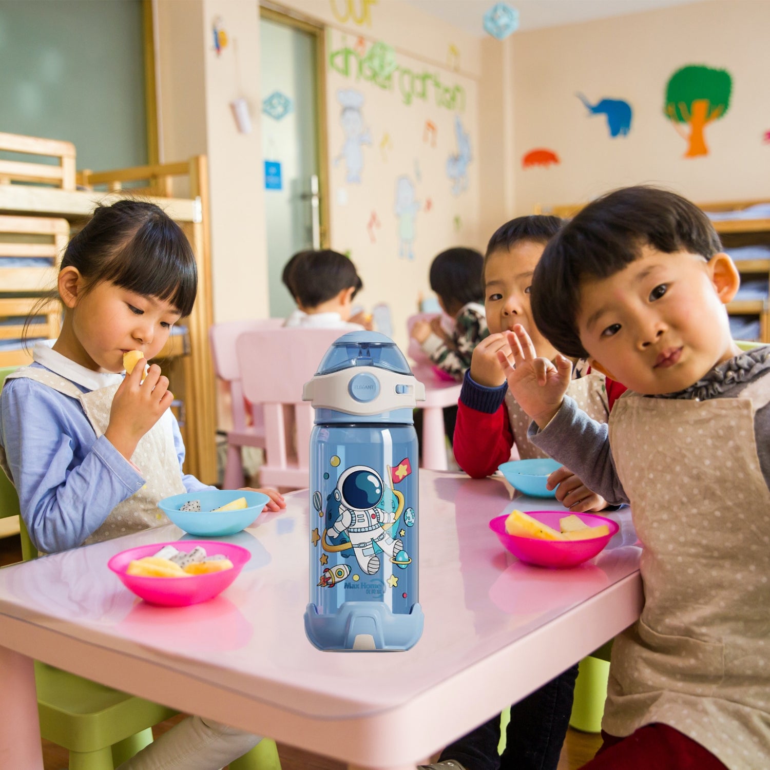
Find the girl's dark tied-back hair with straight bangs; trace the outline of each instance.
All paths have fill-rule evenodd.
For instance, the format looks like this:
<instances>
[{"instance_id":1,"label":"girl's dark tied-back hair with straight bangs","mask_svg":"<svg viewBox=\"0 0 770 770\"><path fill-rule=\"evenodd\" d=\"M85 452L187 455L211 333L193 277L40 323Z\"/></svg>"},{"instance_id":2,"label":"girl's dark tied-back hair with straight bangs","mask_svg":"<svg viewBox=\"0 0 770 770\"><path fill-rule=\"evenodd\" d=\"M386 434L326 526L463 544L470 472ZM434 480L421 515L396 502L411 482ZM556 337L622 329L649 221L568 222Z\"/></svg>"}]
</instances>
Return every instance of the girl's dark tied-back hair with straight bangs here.
<instances>
[{"instance_id":1,"label":"girl's dark tied-back hair with straight bangs","mask_svg":"<svg viewBox=\"0 0 770 770\"><path fill-rule=\"evenodd\" d=\"M167 300L188 316L198 290L195 256L182 228L159 206L119 200L96 206L89 222L70 240L59 269L75 267L85 291L97 283Z\"/></svg>"}]
</instances>

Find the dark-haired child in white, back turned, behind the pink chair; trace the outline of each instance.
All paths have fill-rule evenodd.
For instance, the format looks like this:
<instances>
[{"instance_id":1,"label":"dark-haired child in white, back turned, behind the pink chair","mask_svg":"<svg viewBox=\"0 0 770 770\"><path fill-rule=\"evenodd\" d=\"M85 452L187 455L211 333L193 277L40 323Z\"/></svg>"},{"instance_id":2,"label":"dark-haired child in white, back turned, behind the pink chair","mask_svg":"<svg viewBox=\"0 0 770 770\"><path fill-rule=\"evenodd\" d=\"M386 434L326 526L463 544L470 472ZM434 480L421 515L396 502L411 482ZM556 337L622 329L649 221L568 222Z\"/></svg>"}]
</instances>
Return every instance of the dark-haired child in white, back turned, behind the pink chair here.
<instances>
[{"instance_id":1,"label":"dark-haired child in white, back turned, behind the pink chair","mask_svg":"<svg viewBox=\"0 0 770 770\"><path fill-rule=\"evenodd\" d=\"M298 252L286 263L282 277L297 305L284 326L346 331L372 328L368 313L350 315L353 297L363 283L344 254L331 249Z\"/></svg>"}]
</instances>

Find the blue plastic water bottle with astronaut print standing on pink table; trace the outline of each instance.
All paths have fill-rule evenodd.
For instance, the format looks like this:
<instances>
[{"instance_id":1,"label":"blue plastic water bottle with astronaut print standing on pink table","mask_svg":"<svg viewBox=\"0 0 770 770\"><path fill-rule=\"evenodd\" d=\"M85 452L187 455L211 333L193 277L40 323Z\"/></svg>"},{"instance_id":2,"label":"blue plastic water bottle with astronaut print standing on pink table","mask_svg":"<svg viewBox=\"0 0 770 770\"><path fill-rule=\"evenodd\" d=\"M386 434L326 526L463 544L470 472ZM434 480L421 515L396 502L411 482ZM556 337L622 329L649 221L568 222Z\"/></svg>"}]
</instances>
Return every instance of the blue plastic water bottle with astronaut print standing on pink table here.
<instances>
[{"instance_id":1,"label":"blue plastic water bottle with astronaut print standing on pink table","mask_svg":"<svg viewBox=\"0 0 770 770\"><path fill-rule=\"evenodd\" d=\"M316 410L307 637L321 650L408 650L423 632L413 408L425 388L393 340L361 331L326 351L303 399Z\"/></svg>"}]
</instances>

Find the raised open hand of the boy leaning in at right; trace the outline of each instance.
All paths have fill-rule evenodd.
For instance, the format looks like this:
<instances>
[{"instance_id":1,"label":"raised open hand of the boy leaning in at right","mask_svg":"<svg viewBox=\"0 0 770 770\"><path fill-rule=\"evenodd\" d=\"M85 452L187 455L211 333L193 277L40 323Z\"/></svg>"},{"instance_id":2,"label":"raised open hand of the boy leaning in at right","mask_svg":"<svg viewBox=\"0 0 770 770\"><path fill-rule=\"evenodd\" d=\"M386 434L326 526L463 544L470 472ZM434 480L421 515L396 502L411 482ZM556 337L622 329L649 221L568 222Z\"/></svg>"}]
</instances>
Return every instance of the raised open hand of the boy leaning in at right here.
<instances>
[{"instance_id":1,"label":"raised open hand of the boy leaning in at right","mask_svg":"<svg viewBox=\"0 0 770 770\"><path fill-rule=\"evenodd\" d=\"M511 355L499 350L497 359L508 381L508 390L537 427L544 428L561 407L572 377L572 364L561 353L556 355L555 366L547 358L538 358L520 323L507 332L507 340Z\"/></svg>"}]
</instances>

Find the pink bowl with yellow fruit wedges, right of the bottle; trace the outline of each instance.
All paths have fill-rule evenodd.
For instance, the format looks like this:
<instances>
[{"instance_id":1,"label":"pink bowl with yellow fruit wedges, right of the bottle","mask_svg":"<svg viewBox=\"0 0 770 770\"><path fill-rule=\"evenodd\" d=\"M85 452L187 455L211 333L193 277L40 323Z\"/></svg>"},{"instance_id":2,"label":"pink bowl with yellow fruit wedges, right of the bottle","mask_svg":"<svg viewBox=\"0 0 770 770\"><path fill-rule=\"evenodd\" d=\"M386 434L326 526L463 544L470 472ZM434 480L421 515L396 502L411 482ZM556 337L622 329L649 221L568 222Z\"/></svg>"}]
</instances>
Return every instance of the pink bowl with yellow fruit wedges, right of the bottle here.
<instances>
[{"instance_id":1,"label":"pink bowl with yellow fruit wedges, right of the bottle","mask_svg":"<svg viewBox=\"0 0 770 770\"><path fill-rule=\"evenodd\" d=\"M567 511L511 511L489 523L511 554L539 567L574 567L593 558L620 529L596 514Z\"/></svg>"}]
</instances>

